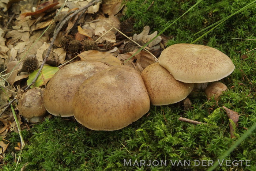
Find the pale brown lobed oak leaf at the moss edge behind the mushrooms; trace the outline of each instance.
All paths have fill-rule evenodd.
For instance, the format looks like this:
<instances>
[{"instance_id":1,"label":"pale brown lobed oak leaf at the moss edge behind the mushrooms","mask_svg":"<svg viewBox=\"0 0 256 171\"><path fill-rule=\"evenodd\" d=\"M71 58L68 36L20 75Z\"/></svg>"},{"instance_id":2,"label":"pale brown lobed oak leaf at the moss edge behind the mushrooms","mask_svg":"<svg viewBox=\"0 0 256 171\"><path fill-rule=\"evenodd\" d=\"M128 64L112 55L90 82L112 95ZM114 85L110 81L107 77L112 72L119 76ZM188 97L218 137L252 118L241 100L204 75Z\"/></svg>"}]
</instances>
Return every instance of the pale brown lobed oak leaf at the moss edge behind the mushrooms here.
<instances>
[{"instance_id":1,"label":"pale brown lobed oak leaf at the moss edge behind the mushrooms","mask_svg":"<svg viewBox=\"0 0 256 171\"><path fill-rule=\"evenodd\" d=\"M145 26L143 28L142 33L140 34L134 34L133 35L133 40L137 43L139 43L139 45L145 45L147 42L149 42L151 39L153 39L156 35L157 35L157 31L155 31L153 34L148 35L150 30L149 26ZM158 36L157 38L154 39L153 42L148 44L148 47L152 47L157 45L158 43L160 43L162 40L161 36Z\"/></svg>"}]
</instances>

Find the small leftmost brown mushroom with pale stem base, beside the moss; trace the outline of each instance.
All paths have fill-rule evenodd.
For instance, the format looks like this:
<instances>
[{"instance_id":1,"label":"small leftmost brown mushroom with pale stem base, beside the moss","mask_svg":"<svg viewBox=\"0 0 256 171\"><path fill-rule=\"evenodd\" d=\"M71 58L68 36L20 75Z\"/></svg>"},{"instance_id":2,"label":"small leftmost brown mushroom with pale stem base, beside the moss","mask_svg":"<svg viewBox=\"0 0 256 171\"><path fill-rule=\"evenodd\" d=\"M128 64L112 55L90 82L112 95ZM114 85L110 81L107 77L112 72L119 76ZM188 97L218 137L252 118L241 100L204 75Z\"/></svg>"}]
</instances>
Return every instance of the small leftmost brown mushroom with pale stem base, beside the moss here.
<instances>
[{"instance_id":1,"label":"small leftmost brown mushroom with pale stem base, beside the moss","mask_svg":"<svg viewBox=\"0 0 256 171\"><path fill-rule=\"evenodd\" d=\"M45 116L44 92L44 88L32 88L19 99L19 113L32 123L40 122Z\"/></svg>"}]
</instances>

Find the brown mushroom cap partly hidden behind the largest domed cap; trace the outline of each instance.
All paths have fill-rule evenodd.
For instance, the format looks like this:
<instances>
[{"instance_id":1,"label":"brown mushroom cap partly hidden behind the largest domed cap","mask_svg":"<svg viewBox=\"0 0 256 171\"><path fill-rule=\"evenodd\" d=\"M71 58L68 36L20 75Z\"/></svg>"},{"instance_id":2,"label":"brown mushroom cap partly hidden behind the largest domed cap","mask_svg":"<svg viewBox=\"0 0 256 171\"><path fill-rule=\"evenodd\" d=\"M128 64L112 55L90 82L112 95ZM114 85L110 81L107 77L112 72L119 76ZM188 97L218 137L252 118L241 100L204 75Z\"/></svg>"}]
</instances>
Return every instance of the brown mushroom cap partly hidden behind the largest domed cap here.
<instances>
[{"instance_id":1,"label":"brown mushroom cap partly hidden behind the largest domed cap","mask_svg":"<svg viewBox=\"0 0 256 171\"><path fill-rule=\"evenodd\" d=\"M55 116L72 116L72 99L84 80L110 66L99 61L77 61L61 68L46 86L44 104Z\"/></svg>"}]
</instances>

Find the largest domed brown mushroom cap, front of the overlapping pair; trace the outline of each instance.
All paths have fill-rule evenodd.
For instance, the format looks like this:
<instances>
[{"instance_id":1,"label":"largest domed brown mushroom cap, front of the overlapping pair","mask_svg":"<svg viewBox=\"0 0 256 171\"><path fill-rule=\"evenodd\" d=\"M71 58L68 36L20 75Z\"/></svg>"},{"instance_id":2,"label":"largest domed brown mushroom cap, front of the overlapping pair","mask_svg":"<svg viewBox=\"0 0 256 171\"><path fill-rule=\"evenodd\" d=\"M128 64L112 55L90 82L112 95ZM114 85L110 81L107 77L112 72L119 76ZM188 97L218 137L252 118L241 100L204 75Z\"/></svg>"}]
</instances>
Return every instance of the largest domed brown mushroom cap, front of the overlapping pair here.
<instances>
[{"instance_id":1,"label":"largest domed brown mushroom cap, front of the overlapping pair","mask_svg":"<svg viewBox=\"0 0 256 171\"><path fill-rule=\"evenodd\" d=\"M142 77L129 66L113 66L85 80L73 99L74 117L93 130L118 130L150 108Z\"/></svg>"}]
</instances>

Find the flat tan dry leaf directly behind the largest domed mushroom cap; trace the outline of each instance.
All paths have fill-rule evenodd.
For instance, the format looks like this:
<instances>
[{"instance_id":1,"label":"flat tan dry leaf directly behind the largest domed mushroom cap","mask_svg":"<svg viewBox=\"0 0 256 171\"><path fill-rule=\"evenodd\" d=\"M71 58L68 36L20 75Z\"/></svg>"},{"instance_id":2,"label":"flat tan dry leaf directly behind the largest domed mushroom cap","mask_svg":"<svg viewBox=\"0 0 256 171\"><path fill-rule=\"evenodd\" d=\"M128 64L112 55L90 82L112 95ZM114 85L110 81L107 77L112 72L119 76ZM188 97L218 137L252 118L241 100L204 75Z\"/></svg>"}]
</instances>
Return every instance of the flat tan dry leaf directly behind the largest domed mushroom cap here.
<instances>
[{"instance_id":1,"label":"flat tan dry leaf directly behind the largest domed mushroom cap","mask_svg":"<svg viewBox=\"0 0 256 171\"><path fill-rule=\"evenodd\" d=\"M110 65L121 65L121 61L112 56L110 53L99 52L98 50L88 50L80 53L78 56L81 58L81 60L95 60L106 62Z\"/></svg>"}]
</instances>

